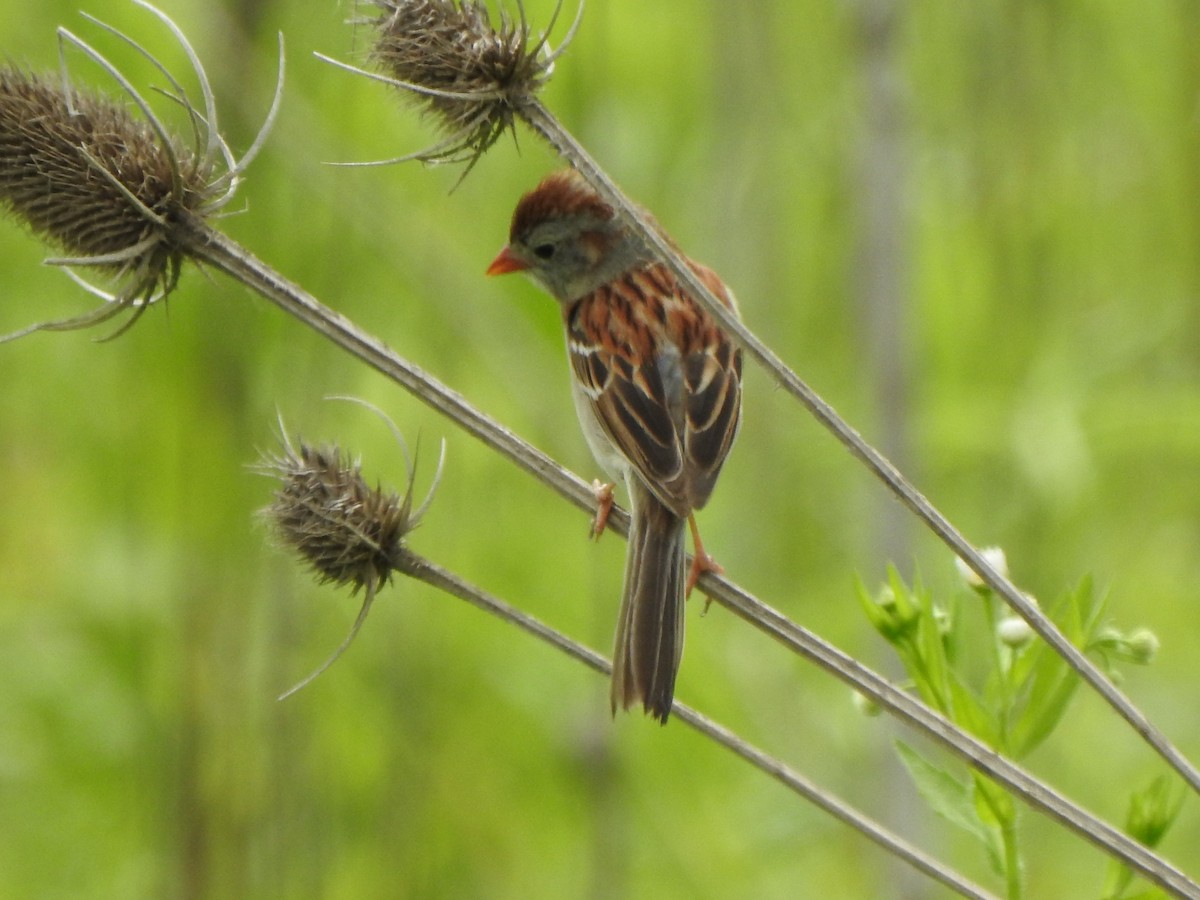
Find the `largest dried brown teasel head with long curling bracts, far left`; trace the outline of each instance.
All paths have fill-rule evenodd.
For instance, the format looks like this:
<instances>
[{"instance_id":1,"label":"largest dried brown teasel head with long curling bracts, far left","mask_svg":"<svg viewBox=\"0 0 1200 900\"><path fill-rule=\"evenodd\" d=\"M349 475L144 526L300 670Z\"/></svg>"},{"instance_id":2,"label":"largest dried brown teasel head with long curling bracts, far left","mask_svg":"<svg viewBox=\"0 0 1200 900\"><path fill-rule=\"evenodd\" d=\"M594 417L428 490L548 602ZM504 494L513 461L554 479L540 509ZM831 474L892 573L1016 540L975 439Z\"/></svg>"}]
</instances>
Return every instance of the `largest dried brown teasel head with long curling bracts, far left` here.
<instances>
[{"instance_id":1,"label":"largest dried brown teasel head with long curling bracts, far left","mask_svg":"<svg viewBox=\"0 0 1200 900\"><path fill-rule=\"evenodd\" d=\"M125 91L130 103L98 91L76 88L66 71L35 74L0 66L0 208L35 234L65 251L47 262L103 270L114 293L84 282L106 300L98 310L76 318L41 323L38 329L83 328L132 310L128 328L179 280L186 258L180 228L190 216L204 218L232 198L246 166L258 152L278 108L275 103L258 139L241 160L217 132L216 106L203 66L182 31L143 0L139 6L167 25L192 62L202 94L198 108L184 85L144 47L109 25L85 18L144 55L167 79L162 94L182 108L191 142L172 134L145 97L98 50L65 28L60 54L74 49L91 59Z\"/></svg>"}]
</instances>

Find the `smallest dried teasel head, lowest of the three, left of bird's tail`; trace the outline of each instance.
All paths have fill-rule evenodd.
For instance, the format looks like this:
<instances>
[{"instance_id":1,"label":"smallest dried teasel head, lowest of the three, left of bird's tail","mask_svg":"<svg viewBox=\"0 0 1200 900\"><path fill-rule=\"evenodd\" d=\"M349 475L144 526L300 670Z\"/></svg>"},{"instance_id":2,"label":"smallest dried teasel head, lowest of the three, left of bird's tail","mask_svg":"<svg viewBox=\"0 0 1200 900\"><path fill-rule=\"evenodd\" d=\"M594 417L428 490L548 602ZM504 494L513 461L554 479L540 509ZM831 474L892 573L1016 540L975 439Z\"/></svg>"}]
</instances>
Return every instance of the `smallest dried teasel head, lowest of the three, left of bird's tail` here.
<instances>
[{"instance_id":1,"label":"smallest dried teasel head, lowest of the three, left of bird's tail","mask_svg":"<svg viewBox=\"0 0 1200 900\"><path fill-rule=\"evenodd\" d=\"M380 414L382 415L382 414ZM391 426L391 422L389 421ZM392 433L403 448L395 426ZM312 674L280 695L283 700L305 688L346 652L366 622L379 587L401 565L404 539L421 521L442 478L445 444L425 500L413 509L415 455L407 463L408 486L403 497L371 487L356 461L335 445L293 444L280 428L282 448L264 455L256 467L280 479L263 516L280 541L300 557L322 583L347 586L350 594L364 592L362 606L346 640Z\"/></svg>"}]
</instances>

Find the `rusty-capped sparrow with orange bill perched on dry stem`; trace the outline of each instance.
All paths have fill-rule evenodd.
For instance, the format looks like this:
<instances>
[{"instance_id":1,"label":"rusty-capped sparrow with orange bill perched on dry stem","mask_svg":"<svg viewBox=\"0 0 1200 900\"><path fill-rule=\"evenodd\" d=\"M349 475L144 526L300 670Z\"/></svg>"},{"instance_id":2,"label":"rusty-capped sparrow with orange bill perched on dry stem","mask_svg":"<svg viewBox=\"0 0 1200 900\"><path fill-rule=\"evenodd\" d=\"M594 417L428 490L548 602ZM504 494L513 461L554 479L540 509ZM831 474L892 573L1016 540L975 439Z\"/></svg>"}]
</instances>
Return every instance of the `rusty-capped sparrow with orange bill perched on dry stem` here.
<instances>
[{"instance_id":1,"label":"rusty-capped sparrow with orange bill perched on dry stem","mask_svg":"<svg viewBox=\"0 0 1200 900\"><path fill-rule=\"evenodd\" d=\"M716 274L688 264L737 313ZM694 514L712 494L740 426L742 353L576 169L547 175L517 203L509 241L487 268L487 275L509 272L530 276L558 301L583 437L601 469L629 492L613 715L641 702L666 724L684 601L703 572L722 571L704 551ZM593 484L595 538L612 487ZM695 553L685 576L689 524Z\"/></svg>"}]
</instances>

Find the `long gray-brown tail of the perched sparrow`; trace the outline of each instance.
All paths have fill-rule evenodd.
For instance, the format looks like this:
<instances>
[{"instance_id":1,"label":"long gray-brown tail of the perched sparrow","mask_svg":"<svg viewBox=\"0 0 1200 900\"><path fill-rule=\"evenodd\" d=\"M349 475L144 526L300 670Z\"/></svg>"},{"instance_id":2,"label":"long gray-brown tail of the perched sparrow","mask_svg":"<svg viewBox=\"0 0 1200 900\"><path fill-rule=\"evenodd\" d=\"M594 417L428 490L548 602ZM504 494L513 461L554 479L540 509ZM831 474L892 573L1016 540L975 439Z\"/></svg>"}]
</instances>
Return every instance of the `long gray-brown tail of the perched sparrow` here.
<instances>
[{"instance_id":1,"label":"long gray-brown tail of the perched sparrow","mask_svg":"<svg viewBox=\"0 0 1200 900\"><path fill-rule=\"evenodd\" d=\"M683 655L684 542L679 518L630 480L632 526L612 660L612 710L643 709L666 724Z\"/></svg>"}]
</instances>

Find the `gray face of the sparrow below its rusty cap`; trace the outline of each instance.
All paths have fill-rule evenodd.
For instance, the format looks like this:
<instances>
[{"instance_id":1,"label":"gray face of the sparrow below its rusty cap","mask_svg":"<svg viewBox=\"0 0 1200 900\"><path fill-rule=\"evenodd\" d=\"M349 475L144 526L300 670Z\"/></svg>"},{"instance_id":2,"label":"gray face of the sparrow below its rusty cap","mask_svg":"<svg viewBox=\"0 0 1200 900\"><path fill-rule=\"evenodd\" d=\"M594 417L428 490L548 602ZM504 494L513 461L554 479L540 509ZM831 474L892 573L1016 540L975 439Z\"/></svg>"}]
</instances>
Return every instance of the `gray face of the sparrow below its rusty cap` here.
<instances>
[{"instance_id":1,"label":"gray face of the sparrow below its rusty cap","mask_svg":"<svg viewBox=\"0 0 1200 900\"><path fill-rule=\"evenodd\" d=\"M611 220L552 218L512 242L528 274L560 302L577 300L640 262L638 245Z\"/></svg>"}]
</instances>

